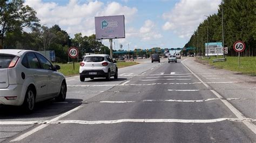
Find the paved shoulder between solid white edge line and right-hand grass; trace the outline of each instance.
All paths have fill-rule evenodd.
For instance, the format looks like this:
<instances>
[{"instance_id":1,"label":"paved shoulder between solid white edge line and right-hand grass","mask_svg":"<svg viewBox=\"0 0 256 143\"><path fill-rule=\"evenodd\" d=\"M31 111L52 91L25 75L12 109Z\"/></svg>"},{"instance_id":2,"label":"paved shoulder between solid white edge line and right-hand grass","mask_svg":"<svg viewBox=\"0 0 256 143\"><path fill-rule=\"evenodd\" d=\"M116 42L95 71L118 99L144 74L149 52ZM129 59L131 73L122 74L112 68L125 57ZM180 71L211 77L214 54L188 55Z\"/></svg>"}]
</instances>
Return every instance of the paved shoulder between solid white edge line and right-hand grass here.
<instances>
[{"instance_id":1,"label":"paved shoulder between solid white edge line and right-hand grass","mask_svg":"<svg viewBox=\"0 0 256 143\"><path fill-rule=\"evenodd\" d=\"M233 79L226 79L227 83L217 84L216 80L208 79L208 85L216 90L221 96L226 99L233 99L229 102L234 105L244 116L248 118L256 118L256 77L239 75L236 72L224 69L213 69L188 59L184 64L196 73L203 81L204 77L234 77ZM192 66L196 65L196 66ZM229 83L228 83L229 82Z\"/></svg>"}]
</instances>

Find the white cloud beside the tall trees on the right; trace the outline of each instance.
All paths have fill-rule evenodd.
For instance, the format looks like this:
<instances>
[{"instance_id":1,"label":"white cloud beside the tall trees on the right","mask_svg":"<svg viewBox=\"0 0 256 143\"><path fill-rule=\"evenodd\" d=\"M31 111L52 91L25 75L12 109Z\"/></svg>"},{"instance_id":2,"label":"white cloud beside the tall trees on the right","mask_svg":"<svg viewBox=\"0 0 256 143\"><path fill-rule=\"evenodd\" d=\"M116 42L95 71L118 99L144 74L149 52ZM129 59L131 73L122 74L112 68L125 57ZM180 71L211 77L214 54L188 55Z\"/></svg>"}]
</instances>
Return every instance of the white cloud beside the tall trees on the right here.
<instances>
[{"instance_id":1,"label":"white cloud beside the tall trees on the right","mask_svg":"<svg viewBox=\"0 0 256 143\"><path fill-rule=\"evenodd\" d=\"M181 0L170 12L163 14L163 18L167 22L162 29L174 30L174 33L178 34L180 38L190 38L200 22L206 19L204 15L217 13L220 1Z\"/></svg>"}]
</instances>

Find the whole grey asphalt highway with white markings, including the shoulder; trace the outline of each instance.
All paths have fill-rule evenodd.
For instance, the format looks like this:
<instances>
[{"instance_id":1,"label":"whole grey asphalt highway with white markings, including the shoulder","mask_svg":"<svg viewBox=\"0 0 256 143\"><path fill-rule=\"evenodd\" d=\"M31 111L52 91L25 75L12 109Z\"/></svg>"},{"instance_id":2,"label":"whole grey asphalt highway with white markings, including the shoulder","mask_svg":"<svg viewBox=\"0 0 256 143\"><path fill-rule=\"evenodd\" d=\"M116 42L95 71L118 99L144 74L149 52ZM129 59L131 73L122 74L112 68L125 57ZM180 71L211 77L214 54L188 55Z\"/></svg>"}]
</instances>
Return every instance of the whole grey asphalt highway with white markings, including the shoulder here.
<instances>
[{"instance_id":1,"label":"whole grey asphalt highway with white markings, including the shoulder","mask_svg":"<svg viewBox=\"0 0 256 143\"><path fill-rule=\"evenodd\" d=\"M67 77L65 102L32 115L0 108L3 142L256 142L256 78L201 65L139 60L119 77Z\"/></svg>"}]
</instances>

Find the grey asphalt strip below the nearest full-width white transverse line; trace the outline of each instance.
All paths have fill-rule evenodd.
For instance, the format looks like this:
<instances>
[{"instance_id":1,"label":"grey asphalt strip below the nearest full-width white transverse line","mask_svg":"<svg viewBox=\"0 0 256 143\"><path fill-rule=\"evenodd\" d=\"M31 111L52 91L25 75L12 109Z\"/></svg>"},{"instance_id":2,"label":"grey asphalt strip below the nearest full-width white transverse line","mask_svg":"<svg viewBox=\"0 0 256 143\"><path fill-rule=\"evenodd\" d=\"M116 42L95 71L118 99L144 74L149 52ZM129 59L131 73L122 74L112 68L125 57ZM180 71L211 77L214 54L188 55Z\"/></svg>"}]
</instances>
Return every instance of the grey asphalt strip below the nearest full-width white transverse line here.
<instances>
[{"instance_id":1,"label":"grey asphalt strip below the nearest full-width white transverse line","mask_svg":"<svg viewBox=\"0 0 256 143\"><path fill-rule=\"evenodd\" d=\"M241 123L50 125L19 142L254 142ZM40 135L39 135L40 134Z\"/></svg>"}]
</instances>

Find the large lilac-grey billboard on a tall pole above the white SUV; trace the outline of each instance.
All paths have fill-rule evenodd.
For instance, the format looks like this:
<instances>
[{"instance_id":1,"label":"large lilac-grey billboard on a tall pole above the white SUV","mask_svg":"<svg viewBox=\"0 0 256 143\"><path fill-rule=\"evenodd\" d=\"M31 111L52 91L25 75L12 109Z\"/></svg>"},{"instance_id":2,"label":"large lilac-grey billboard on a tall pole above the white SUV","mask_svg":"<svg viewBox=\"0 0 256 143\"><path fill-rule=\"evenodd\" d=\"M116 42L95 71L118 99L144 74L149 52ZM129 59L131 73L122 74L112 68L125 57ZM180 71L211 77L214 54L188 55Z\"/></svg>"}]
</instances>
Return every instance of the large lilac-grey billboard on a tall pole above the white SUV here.
<instances>
[{"instance_id":1,"label":"large lilac-grey billboard on a tall pole above the white SUV","mask_svg":"<svg viewBox=\"0 0 256 143\"><path fill-rule=\"evenodd\" d=\"M95 17L96 39L125 38L124 15Z\"/></svg>"}]
</instances>

